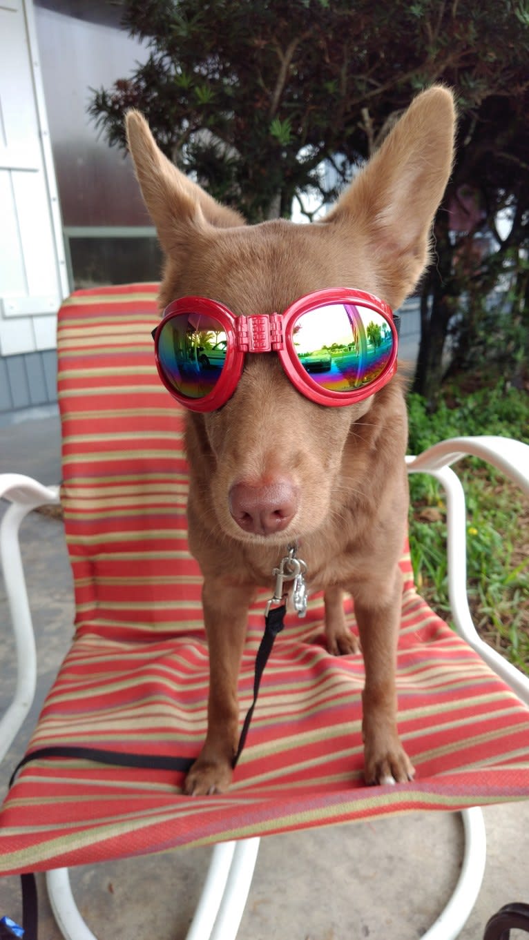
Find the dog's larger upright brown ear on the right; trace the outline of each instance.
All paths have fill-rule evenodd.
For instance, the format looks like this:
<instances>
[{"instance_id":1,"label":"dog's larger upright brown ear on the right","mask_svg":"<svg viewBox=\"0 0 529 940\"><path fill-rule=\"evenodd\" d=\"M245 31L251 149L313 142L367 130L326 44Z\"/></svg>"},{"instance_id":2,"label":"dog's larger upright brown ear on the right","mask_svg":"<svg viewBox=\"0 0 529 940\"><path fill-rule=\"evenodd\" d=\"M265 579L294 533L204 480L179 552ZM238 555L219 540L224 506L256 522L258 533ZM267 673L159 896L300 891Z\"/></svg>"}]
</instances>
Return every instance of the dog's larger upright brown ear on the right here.
<instances>
[{"instance_id":1,"label":"dog's larger upright brown ear on the right","mask_svg":"<svg viewBox=\"0 0 529 940\"><path fill-rule=\"evenodd\" d=\"M341 196L326 221L346 227L373 258L397 305L423 273L435 212L452 169L456 111L442 86L422 92Z\"/></svg>"}]
</instances>

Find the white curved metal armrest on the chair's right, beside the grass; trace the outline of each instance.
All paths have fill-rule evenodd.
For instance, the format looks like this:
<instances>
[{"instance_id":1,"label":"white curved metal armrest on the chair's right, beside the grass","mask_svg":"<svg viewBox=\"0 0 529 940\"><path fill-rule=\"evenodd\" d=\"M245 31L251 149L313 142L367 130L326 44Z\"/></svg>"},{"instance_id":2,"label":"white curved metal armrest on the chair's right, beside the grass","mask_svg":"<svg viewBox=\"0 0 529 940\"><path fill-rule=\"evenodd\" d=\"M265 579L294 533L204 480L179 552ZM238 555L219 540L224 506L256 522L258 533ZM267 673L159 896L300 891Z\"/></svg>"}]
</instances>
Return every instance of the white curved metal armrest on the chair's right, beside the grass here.
<instances>
[{"instance_id":1,"label":"white curved metal armrest on the chair's right, beside the grass","mask_svg":"<svg viewBox=\"0 0 529 940\"><path fill-rule=\"evenodd\" d=\"M529 677L508 663L478 635L467 598L467 519L465 494L451 467L462 457L479 457L503 471L529 495L529 446L507 437L454 437L406 458L409 473L429 473L446 494L448 594L457 633L529 705Z\"/></svg>"}]
</instances>

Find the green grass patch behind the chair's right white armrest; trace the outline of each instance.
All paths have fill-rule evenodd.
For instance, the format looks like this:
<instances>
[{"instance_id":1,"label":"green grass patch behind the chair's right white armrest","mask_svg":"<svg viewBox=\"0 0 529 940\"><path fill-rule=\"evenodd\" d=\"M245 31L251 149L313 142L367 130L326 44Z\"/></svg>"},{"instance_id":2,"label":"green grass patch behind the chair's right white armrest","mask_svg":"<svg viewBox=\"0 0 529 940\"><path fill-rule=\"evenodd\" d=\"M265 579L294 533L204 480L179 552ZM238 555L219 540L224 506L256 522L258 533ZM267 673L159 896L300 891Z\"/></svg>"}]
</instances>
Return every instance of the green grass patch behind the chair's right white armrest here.
<instances>
[{"instance_id":1,"label":"green grass patch behind the chair's right white armrest","mask_svg":"<svg viewBox=\"0 0 529 940\"><path fill-rule=\"evenodd\" d=\"M429 415L409 395L409 453L446 437L500 434L529 443L529 395L499 382L478 390L450 386ZM480 635L529 674L529 503L503 474L474 458L458 464L467 496L469 599ZM441 617L449 617L446 509L441 486L409 478L409 542L416 584Z\"/></svg>"}]
</instances>

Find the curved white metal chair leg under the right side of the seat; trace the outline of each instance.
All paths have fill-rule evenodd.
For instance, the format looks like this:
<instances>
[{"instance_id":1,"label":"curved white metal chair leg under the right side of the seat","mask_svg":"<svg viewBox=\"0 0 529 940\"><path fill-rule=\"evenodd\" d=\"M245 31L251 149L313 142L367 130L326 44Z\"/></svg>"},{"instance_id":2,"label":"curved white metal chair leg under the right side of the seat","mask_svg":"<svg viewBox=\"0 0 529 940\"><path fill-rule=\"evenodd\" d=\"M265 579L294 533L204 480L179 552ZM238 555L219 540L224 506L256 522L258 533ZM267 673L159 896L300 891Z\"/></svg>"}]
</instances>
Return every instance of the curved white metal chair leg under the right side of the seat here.
<instances>
[{"instance_id":1,"label":"curved white metal chair leg under the right side of the seat","mask_svg":"<svg viewBox=\"0 0 529 940\"><path fill-rule=\"evenodd\" d=\"M465 851L459 879L450 901L440 917L423 934L422 940L455 940L470 916L481 888L487 858L483 813L479 807L473 807L463 809L461 817L465 832Z\"/></svg>"}]
</instances>

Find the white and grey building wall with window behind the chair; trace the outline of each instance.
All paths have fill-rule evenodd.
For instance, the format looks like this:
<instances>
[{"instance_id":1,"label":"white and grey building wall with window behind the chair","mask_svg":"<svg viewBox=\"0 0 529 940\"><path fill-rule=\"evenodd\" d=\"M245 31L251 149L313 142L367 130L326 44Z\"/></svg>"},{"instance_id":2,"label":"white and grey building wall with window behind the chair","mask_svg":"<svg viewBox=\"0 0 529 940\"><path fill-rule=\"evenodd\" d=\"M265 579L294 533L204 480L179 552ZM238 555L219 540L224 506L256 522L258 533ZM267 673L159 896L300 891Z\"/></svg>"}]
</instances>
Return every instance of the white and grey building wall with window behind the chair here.
<instances>
[{"instance_id":1,"label":"white and grey building wall with window behind the chair","mask_svg":"<svg viewBox=\"0 0 529 940\"><path fill-rule=\"evenodd\" d=\"M0 0L0 415L56 400L72 289L158 276L130 161L87 113L142 55L104 0Z\"/></svg>"}]
</instances>

